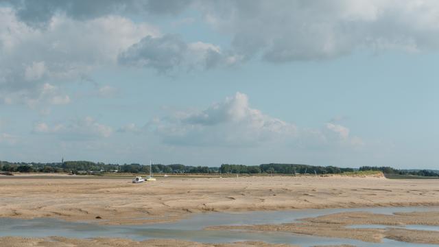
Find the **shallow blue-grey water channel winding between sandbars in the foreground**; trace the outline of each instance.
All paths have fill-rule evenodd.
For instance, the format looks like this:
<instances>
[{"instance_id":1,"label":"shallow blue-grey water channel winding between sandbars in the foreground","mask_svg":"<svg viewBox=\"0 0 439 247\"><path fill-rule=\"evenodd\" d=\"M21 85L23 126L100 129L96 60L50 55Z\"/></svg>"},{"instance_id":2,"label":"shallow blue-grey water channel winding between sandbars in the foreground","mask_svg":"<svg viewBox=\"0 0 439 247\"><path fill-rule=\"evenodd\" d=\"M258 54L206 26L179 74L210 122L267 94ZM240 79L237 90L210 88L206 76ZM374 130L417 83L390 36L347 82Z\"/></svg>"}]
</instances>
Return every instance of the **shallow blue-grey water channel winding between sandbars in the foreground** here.
<instances>
[{"instance_id":1,"label":"shallow blue-grey water channel winding between sandbars in the foreground","mask_svg":"<svg viewBox=\"0 0 439 247\"><path fill-rule=\"evenodd\" d=\"M257 211L249 213L200 213L191 218L173 223L147 224L140 226L99 226L81 222L64 222L49 218L19 220L0 218L0 236L47 237L63 236L75 238L122 237L135 240L152 238L185 239L195 242L237 242L259 240L270 243L314 246L322 244L351 244L355 246L419 246L385 239L383 243L371 244L351 239L315 237L290 233L246 233L241 231L206 231L206 226L237 224L281 224L294 222L304 217L317 217L329 213L346 211L368 211L371 213L394 213L412 211L438 211L439 207L367 208L367 209L309 209L294 211ZM375 227L374 225L353 227ZM377 226L383 227L383 226ZM386 227L386 226L384 226ZM405 226L410 229L438 231L439 226ZM430 246L423 244L422 246ZM431 245L433 246L433 245Z\"/></svg>"}]
</instances>

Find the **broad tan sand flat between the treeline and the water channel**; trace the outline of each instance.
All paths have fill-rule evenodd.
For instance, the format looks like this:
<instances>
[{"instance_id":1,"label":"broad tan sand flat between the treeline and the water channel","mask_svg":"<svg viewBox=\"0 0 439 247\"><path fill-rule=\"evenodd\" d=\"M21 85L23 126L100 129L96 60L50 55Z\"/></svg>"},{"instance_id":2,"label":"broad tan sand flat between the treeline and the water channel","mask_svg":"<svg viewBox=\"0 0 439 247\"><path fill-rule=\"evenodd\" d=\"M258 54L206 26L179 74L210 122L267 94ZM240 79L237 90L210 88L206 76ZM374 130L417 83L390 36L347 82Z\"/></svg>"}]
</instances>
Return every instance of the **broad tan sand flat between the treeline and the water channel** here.
<instances>
[{"instance_id":1,"label":"broad tan sand flat between the treeline and the water channel","mask_svg":"<svg viewBox=\"0 0 439 247\"><path fill-rule=\"evenodd\" d=\"M166 222L206 211L439 205L439 180L254 176L120 178L0 176L0 217L56 217L99 224ZM311 224L312 222L309 222Z\"/></svg>"}]
</instances>

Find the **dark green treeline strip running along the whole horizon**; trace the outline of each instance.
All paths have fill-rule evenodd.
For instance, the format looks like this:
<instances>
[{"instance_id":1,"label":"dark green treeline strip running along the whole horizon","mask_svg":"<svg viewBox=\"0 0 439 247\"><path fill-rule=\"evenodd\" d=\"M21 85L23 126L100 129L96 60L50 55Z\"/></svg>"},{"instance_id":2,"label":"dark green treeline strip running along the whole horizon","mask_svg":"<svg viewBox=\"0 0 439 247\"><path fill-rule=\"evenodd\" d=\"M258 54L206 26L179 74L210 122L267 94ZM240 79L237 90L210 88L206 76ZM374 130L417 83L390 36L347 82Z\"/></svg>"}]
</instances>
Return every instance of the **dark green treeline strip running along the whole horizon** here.
<instances>
[{"instance_id":1,"label":"dark green treeline strip running along the whole horizon","mask_svg":"<svg viewBox=\"0 0 439 247\"><path fill-rule=\"evenodd\" d=\"M221 167L188 166L182 164L152 165L153 173L174 174L342 174L355 171L380 171L384 174L401 174L415 176L439 176L438 171L418 169L394 169L392 167L363 166L359 169L340 168L334 166L314 166L302 164L261 164L261 165L234 165L222 164ZM91 161L65 161L63 163L11 163L0 161L0 171L3 172L67 172L73 174L87 173L149 173L150 165L132 164L105 164Z\"/></svg>"}]
</instances>

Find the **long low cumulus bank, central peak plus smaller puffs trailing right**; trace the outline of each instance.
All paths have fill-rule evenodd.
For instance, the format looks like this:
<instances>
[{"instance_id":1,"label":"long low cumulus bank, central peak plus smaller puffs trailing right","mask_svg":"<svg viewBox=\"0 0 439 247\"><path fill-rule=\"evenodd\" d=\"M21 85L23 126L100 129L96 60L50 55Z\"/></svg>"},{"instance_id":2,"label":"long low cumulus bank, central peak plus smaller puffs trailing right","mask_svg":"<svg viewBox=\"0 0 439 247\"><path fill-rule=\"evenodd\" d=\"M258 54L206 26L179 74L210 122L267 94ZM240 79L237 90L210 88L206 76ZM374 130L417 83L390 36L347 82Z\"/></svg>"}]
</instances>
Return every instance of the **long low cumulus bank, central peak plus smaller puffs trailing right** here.
<instances>
[{"instance_id":1,"label":"long low cumulus bank, central peak plus smaller puffs trailing right","mask_svg":"<svg viewBox=\"0 0 439 247\"><path fill-rule=\"evenodd\" d=\"M322 128L298 127L261 113L250 106L248 96L236 93L204 110L179 111L150 123L169 145L227 147L345 147L364 145L349 128L328 123Z\"/></svg>"}]
</instances>

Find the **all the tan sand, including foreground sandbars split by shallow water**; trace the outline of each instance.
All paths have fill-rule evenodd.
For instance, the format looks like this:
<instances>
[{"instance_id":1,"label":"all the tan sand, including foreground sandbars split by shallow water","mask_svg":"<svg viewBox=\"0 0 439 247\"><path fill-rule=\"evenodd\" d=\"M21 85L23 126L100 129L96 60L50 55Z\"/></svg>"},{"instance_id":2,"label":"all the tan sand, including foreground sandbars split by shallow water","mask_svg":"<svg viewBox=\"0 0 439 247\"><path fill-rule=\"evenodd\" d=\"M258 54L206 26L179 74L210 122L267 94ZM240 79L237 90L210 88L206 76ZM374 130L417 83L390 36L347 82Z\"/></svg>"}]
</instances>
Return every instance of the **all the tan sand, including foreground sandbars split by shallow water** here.
<instances>
[{"instance_id":1,"label":"all the tan sand, including foreground sandbars split by shallow water","mask_svg":"<svg viewBox=\"0 0 439 247\"><path fill-rule=\"evenodd\" d=\"M54 217L96 224L170 222L208 211L263 211L439 205L439 180L389 180L383 176L248 176L239 178L158 178L133 184L129 178L72 176L0 177L0 217ZM383 224L388 228L348 228ZM398 228L439 225L439 212L345 212L285 224L210 226L210 230L283 231L364 242L383 238L439 244L436 231ZM272 247L264 242L206 244L176 239L70 239L0 237L0 246L215 246Z\"/></svg>"}]
</instances>

